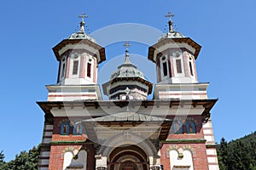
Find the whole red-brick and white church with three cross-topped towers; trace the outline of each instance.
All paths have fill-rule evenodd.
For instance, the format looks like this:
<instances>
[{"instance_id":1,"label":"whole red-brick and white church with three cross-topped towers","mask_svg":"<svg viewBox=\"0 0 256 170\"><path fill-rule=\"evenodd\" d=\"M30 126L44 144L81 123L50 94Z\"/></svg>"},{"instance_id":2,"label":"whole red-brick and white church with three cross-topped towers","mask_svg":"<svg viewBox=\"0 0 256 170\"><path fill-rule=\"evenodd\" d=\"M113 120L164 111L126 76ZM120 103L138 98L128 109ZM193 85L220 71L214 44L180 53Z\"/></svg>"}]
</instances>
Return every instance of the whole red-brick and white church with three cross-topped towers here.
<instances>
[{"instance_id":1,"label":"whole red-brick and white church with three cross-topped towers","mask_svg":"<svg viewBox=\"0 0 256 170\"><path fill-rule=\"evenodd\" d=\"M124 62L102 85L105 48L79 16L79 31L53 48L57 82L37 102L44 111L39 170L218 170L210 114L218 99L198 82L201 45L175 31L172 16L169 31L148 47L155 84L131 62L125 42Z\"/></svg>"}]
</instances>

